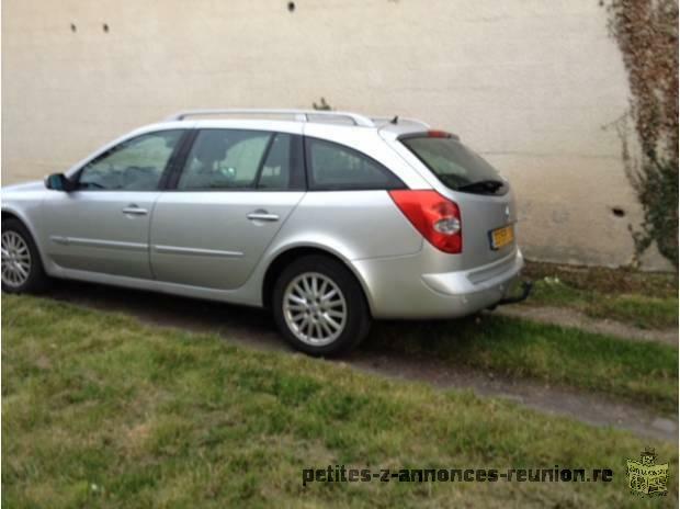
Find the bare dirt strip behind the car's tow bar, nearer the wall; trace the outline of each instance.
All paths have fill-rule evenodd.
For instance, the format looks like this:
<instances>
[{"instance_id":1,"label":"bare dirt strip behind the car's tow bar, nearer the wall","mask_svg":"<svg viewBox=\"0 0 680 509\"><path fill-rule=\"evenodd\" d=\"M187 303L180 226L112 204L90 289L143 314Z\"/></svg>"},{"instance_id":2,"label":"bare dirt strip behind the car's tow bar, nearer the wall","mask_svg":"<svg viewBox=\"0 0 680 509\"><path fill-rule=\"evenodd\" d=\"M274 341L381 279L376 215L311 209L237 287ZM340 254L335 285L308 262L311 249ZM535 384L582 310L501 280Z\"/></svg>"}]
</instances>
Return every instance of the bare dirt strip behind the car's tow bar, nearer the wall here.
<instances>
[{"instance_id":1,"label":"bare dirt strip behind the car's tow bar, nearer the wall","mask_svg":"<svg viewBox=\"0 0 680 509\"><path fill-rule=\"evenodd\" d=\"M577 327L588 332L615 336L627 340L658 341L678 347L678 330L641 329L616 320L590 318L580 312L565 307L507 306L499 307L494 313L541 324Z\"/></svg>"}]
</instances>

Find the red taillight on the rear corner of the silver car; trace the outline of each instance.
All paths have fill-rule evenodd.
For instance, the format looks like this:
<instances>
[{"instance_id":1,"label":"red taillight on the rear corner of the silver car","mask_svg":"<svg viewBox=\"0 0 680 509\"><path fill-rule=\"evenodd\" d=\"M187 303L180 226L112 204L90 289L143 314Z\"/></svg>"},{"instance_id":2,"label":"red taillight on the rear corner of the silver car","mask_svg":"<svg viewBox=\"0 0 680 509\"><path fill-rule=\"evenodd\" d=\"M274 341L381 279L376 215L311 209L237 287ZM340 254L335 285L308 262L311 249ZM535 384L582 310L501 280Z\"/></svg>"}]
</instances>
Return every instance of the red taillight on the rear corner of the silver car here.
<instances>
[{"instance_id":1,"label":"red taillight on the rear corner of the silver car","mask_svg":"<svg viewBox=\"0 0 680 509\"><path fill-rule=\"evenodd\" d=\"M389 191L389 195L432 246L444 252L463 251L461 211L455 203L432 190Z\"/></svg>"}]
</instances>

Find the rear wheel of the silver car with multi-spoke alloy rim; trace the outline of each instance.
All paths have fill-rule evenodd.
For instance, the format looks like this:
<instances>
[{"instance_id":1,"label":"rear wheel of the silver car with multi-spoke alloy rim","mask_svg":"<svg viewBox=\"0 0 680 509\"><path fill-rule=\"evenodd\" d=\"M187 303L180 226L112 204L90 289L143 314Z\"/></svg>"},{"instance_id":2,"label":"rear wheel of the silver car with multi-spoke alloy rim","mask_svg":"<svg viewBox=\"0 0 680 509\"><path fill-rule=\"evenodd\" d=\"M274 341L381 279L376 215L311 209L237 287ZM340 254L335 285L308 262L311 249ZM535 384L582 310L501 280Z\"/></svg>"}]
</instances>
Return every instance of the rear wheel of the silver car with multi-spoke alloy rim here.
<instances>
[{"instance_id":1,"label":"rear wheel of the silver car with multi-spoke alloy rim","mask_svg":"<svg viewBox=\"0 0 680 509\"><path fill-rule=\"evenodd\" d=\"M315 357L333 357L361 342L371 328L363 290L350 270L332 258L298 258L280 274L273 314L293 348Z\"/></svg>"}]
</instances>

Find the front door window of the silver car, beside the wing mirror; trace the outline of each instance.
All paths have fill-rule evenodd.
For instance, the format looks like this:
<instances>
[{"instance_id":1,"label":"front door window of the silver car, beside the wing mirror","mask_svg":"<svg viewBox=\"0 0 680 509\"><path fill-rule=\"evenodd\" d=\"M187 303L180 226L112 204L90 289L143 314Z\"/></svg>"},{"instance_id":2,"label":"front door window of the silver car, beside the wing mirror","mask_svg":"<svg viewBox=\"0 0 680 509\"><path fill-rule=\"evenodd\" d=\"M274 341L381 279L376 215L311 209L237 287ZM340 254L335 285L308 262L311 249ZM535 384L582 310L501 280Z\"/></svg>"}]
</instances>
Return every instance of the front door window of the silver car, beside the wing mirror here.
<instances>
[{"instance_id":1,"label":"front door window of the silver car, beside the wing mirror","mask_svg":"<svg viewBox=\"0 0 680 509\"><path fill-rule=\"evenodd\" d=\"M160 131L127 139L88 162L78 189L87 191L154 191L182 134Z\"/></svg>"}]
</instances>

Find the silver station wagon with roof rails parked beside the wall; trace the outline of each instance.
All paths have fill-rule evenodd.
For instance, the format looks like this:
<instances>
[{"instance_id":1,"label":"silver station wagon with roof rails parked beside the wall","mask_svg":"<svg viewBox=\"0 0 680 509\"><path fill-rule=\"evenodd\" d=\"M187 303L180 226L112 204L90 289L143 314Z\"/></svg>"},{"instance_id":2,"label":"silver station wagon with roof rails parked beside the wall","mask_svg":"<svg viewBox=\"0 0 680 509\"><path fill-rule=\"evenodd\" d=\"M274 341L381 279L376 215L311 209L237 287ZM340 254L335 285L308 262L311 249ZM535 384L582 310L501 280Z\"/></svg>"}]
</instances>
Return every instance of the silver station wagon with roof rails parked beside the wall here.
<instances>
[{"instance_id":1,"label":"silver station wagon with roof rails parked beside the wall","mask_svg":"<svg viewBox=\"0 0 680 509\"><path fill-rule=\"evenodd\" d=\"M3 188L2 290L63 278L262 306L330 355L374 318L525 298L515 220L508 181L420 121L191 111Z\"/></svg>"}]
</instances>

